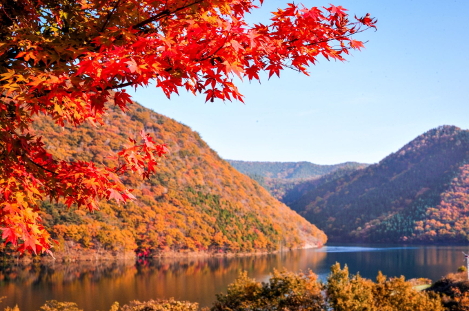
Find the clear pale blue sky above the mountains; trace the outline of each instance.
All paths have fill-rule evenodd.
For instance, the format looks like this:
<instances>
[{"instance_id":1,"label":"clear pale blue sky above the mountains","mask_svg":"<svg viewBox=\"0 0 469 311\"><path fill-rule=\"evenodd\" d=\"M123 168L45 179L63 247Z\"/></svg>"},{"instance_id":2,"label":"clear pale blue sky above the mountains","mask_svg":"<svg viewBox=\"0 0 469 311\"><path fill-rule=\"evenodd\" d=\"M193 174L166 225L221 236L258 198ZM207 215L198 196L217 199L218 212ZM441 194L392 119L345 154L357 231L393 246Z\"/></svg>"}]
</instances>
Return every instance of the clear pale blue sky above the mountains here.
<instances>
[{"instance_id":1,"label":"clear pale blue sky above the mountains","mask_svg":"<svg viewBox=\"0 0 469 311\"><path fill-rule=\"evenodd\" d=\"M265 0L248 21L266 22L286 3ZM309 77L286 70L239 84L245 105L183 92L168 100L154 87L129 92L233 160L372 163L439 125L469 128L469 0L303 2L328 3L379 19L346 63L321 59Z\"/></svg>"}]
</instances>

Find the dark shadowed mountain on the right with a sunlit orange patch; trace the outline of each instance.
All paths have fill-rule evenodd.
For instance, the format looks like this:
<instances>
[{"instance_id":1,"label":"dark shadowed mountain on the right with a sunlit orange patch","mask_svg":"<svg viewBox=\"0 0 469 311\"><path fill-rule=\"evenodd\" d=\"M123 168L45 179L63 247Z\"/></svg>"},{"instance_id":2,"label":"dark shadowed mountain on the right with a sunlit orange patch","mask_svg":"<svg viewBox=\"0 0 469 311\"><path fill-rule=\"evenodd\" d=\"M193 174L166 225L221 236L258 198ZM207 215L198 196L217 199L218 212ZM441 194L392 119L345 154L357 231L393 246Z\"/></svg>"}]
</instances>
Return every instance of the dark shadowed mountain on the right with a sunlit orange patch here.
<instances>
[{"instance_id":1,"label":"dark shadowed mountain on the right with a sunlit orange patch","mask_svg":"<svg viewBox=\"0 0 469 311\"><path fill-rule=\"evenodd\" d=\"M335 241L468 242L469 131L443 126L290 204Z\"/></svg>"}]
</instances>

